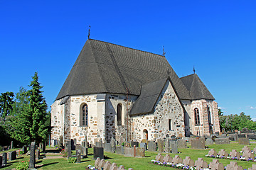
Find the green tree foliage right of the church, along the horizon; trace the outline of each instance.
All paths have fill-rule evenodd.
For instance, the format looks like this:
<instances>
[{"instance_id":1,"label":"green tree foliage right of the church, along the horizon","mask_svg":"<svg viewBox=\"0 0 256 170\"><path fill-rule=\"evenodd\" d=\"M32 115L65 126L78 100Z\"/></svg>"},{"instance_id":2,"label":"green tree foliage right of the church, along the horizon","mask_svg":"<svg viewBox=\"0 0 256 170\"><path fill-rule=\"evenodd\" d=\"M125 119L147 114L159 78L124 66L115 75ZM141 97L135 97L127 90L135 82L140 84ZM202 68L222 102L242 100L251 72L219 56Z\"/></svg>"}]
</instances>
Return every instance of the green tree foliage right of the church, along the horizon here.
<instances>
[{"instance_id":1,"label":"green tree foliage right of the church, along the horizon","mask_svg":"<svg viewBox=\"0 0 256 170\"><path fill-rule=\"evenodd\" d=\"M225 131L233 131L233 130L242 130L245 128L248 130L256 130L256 123L252 121L252 118L250 118L250 115L245 115L245 113L243 112L240 113L239 115L238 114L235 114L235 115L219 114L219 121L220 121L220 130L225 129Z\"/></svg>"}]
</instances>

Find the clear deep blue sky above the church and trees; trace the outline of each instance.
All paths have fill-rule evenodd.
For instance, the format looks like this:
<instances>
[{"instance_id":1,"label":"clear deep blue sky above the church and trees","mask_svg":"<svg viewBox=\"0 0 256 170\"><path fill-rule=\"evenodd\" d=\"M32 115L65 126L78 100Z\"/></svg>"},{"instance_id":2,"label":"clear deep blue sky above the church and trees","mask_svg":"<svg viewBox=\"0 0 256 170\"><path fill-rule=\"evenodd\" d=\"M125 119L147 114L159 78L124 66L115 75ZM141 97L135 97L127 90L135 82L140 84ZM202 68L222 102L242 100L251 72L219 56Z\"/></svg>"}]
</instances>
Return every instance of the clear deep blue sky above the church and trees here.
<instances>
[{"instance_id":1,"label":"clear deep blue sky above the church and trees","mask_svg":"<svg viewBox=\"0 0 256 170\"><path fill-rule=\"evenodd\" d=\"M0 0L0 92L38 72L50 106L90 38L162 54L196 73L225 115L256 118L256 1Z\"/></svg>"}]
</instances>

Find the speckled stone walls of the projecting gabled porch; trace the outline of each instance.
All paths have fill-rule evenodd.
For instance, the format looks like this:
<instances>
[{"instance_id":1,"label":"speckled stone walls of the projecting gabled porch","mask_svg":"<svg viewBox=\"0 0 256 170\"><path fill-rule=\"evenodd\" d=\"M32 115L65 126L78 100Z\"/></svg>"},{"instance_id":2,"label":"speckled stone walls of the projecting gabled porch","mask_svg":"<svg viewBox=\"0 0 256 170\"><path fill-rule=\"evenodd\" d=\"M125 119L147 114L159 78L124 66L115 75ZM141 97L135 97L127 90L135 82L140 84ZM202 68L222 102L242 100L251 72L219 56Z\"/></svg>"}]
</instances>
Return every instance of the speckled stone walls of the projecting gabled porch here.
<instances>
[{"instance_id":1,"label":"speckled stone walls of the projecting gabled porch","mask_svg":"<svg viewBox=\"0 0 256 170\"><path fill-rule=\"evenodd\" d=\"M169 130L169 120L171 120L171 130ZM146 130L148 140L185 135L183 108L169 81L156 102L154 113L132 116L132 130L134 139L139 141L145 138Z\"/></svg>"}]
</instances>

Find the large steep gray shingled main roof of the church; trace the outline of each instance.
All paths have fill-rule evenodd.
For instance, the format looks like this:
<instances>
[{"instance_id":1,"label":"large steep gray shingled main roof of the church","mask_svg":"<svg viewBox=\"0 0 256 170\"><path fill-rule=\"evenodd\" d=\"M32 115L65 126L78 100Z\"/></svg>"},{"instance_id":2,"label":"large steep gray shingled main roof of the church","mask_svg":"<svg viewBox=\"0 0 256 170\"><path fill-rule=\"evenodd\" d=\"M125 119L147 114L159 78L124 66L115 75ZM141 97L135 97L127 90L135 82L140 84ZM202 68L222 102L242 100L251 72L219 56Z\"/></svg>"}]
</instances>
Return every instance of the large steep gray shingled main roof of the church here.
<instances>
[{"instance_id":1,"label":"large steep gray shingled main roof of the church","mask_svg":"<svg viewBox=\"0 0 256 170\"><path fill-rule=\"evenodd\" d=\"M56 99L82 94L141 93L142 84L168 75L181 99L191 99L165 57L109 42L89 39Z\"/></svg>"}]
</instances>

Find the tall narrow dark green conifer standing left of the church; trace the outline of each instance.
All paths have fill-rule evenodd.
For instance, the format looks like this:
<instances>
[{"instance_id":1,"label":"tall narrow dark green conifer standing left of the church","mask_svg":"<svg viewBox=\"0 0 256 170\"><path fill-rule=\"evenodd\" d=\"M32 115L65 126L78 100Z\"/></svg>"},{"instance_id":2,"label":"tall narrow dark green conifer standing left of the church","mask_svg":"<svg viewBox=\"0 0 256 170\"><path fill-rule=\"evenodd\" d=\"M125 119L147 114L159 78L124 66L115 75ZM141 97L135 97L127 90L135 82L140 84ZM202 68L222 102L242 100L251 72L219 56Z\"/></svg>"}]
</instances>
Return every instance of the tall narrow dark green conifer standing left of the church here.
<instances>
[{"instance_id":1,"label":"tall narrow dark green conifer standing left of the church","mask_svg":"<svg viewBox=\"0 0 256 170\"><path fill-rule=\"evenodd\" d=\"M28 91L28 112L25 117L28 118L28 127L31 135L31 141L44 142L48 137L48 125L47 122L47 104L46 99L43 97L43 91L38 83L38 73L32 77L31 90Z\"/></svg>"}]
</instances>

